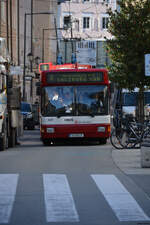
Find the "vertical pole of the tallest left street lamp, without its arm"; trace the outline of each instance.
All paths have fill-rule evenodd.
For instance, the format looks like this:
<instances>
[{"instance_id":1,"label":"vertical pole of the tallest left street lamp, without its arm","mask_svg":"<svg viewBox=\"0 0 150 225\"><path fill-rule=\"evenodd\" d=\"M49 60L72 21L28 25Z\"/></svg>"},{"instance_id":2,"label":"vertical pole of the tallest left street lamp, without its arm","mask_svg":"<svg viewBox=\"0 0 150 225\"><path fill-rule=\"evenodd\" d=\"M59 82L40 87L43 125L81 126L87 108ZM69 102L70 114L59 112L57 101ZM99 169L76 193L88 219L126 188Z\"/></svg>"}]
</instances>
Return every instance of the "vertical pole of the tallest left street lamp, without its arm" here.
<instances>
[{"instance_id":1,"label":"vertical pole of the tallest left street lamp, without its arm","mask_svg":"<svg viewBox=\"0 0 150 225\"><path fill-rule=\"evenodd\" d=\"M27 14L24 15L24 63L23 63L23 101L25 101L25 75L26 75L26 17Z\"/></svg>"}]
</instances>

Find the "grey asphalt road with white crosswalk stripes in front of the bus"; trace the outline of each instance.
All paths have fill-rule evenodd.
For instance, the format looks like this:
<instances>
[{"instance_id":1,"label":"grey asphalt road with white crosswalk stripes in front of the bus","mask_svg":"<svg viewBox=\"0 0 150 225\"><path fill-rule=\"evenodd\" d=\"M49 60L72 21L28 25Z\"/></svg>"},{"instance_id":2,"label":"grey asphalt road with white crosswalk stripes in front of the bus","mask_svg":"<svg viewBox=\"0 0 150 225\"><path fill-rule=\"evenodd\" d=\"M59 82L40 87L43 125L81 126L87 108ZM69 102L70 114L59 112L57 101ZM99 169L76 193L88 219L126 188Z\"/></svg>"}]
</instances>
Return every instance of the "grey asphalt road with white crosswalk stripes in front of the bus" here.
<instances>
[{"instance_id":1,"label":"grey asphalt road with white crosswalk stripes in front of the bus","mask_svg":"<svg viewBox=\"0 0 150 225\"><path fill-rule=\"evenodd\" d=\"M35 130L20 143L0 152L0 224L150 224L150 174L120 169L109 142L45 147Z\"/></svg>"}]
</instances>

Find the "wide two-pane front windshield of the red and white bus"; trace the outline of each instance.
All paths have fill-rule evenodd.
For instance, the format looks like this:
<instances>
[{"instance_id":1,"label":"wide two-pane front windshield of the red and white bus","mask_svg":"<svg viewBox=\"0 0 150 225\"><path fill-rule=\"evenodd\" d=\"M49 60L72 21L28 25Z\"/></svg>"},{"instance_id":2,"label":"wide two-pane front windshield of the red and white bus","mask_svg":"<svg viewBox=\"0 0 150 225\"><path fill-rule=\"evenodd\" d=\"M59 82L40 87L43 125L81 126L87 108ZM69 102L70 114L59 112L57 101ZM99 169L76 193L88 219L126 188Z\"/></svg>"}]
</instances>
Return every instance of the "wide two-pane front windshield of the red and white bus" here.
<instances>
[{"instance_id":1,"label":"wide two-pane front windshield of the red and white bus","mask_svg":"<svg viewBox=\"0 0 150 225\"><path fill-rule=\"evenodd\" d=\"M108 115L106 85L49 86L42 88L42 116Z\"/></svg>"}]
</instances>

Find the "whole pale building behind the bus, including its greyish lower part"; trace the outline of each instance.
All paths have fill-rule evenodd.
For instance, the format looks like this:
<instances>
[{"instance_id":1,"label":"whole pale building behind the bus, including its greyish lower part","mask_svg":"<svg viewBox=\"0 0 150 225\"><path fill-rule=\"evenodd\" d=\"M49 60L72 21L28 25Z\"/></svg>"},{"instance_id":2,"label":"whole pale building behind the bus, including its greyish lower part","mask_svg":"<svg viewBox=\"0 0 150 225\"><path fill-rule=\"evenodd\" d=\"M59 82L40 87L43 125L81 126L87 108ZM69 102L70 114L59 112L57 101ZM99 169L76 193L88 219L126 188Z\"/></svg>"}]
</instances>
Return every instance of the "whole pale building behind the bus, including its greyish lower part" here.
<instances>
[{"instance_id":1,"label":"whole pale building behind the bus, including its greyish lower part","mask_svg":"<svg viewBox=\"0 0 150 225\"><path fill-rule=\"evenodd\" d=\"M116 10L116 0L62 0L62 3L58 6L57 26L64 28L63 30L58 30L58 38L61 40L60 50L64 62L69 62L73 52L78 57L80 46L82 46L84 55L87 52L90 54L92 50L94 57L93 46L96 46L95 60L92 57L89 58L89 61L86 61L87 59L85 61L82 60L82 63L90 63L91 60L91 62L93 61L92 65L95 66L108 64L108 56L104 49L105 37L111 38L111 34L107 30L109 21L108 8L111 8L113 11ZM85 51L84 46L85 48L88 46L91 50ZM81 54L80 58L83 59L83 57Z\"/></svg>"}]
</instances>

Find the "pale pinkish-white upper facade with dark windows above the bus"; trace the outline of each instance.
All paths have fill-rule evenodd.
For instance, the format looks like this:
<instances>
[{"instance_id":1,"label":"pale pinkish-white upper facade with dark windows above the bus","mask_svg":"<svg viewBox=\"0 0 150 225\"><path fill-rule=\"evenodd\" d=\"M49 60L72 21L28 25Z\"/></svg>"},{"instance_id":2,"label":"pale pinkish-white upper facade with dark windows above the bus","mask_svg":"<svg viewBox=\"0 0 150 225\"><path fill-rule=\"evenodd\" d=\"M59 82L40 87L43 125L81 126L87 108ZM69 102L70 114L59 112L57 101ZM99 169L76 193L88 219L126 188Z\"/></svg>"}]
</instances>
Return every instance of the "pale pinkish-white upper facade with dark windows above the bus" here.
<instances>
[{"instance_id":1,"label":"pale pinkish-white upper facade with dark windows above the bus","mask_svg":"<svg viewBox=\"0 0 150 225\"><path fill-rule=\"evenodd\" d=\"M116 10L116 0L70 0L59 5L58 26L62 38L101 40L111 37L107 32L108 8Z\"/></svg>"}]
</instances>

